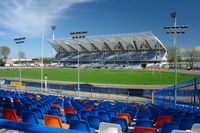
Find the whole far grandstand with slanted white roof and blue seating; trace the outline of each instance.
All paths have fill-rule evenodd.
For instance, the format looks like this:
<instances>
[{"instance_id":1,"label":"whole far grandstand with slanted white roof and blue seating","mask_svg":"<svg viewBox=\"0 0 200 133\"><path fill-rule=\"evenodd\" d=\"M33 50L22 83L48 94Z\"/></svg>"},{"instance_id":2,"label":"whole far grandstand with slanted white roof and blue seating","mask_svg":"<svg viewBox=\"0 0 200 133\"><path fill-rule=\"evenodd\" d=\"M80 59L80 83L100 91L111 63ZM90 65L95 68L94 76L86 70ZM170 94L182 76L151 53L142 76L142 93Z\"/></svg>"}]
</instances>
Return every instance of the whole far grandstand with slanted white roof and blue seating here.
<instances>
[{"instance_id":1,"label":"whole far grandstand with slanted white roof and blue seating","mask_svg":"<svg viewBox=\"0 0 200 133\"><path fill-rule=\"evenodd\" d=\"M126 33L86 38L48 40L57 52L54 61L66 67L142 68L162 67L167 50L150 32Z\"/></svg>"}]
</instances>

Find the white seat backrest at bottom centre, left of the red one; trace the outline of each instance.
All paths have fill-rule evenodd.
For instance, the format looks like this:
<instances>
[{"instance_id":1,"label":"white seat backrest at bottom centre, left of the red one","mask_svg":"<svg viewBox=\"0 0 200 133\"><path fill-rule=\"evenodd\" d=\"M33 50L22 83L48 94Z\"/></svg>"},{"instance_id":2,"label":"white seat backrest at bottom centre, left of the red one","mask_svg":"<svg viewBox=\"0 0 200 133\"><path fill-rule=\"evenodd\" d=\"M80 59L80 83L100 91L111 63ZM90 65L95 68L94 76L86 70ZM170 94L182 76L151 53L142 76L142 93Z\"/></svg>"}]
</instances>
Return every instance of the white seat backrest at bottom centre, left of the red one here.
<instances>
[{"instance_id":1,"label":"white seat backrest at bottom centre, left of the red one","mask_svg":"<svg viewBox=\"0 0 200 133\"><path fill-rule=\"evenodd\" d=\"M122 129L119 124L101 122L99 133L122 133Z\"/></svg>"}]
</instances>

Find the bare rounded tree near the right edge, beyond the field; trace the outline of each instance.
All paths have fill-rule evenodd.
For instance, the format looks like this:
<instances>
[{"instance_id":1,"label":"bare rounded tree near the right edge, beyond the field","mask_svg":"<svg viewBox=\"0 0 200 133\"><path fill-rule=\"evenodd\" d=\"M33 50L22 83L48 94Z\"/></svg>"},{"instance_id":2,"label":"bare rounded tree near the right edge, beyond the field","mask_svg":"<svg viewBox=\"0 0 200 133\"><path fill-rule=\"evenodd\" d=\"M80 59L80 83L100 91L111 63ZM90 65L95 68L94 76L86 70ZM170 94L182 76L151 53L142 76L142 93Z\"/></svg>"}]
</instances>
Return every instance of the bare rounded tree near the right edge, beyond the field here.
<instances>
[{"instance_id":1,"label":"bare rounded tree near the right edge, beyond the field","mask_svg":"<svg viewBox=\"0 0 200 133\"><path fill-rule=\"evenodd\" d=\"M195 48L188 48L183 51L183 54L185 54L186 61L190 64L190 69L194 68L194 62L197 60L198 57L198 51Z\"/></svg>"}]
</instances>

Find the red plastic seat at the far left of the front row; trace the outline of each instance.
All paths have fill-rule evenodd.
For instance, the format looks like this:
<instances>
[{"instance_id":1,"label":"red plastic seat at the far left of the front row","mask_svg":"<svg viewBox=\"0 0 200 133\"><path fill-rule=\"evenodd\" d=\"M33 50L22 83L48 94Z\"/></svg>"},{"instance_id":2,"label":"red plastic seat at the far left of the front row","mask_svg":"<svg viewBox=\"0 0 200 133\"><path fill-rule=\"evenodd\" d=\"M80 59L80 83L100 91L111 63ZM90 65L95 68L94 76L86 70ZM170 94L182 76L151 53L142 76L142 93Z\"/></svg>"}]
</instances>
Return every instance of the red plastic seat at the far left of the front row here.
<instances>
[{"instance_id":1,"label":"red plastic seat at the far left of the front row","mask_svg":"<svg viewBox=\"0 0 200 133\"><path fill-rule=\"evenodd\" d=\"M2 118L12 121L22 121L20 118L17 117L13 109L2 109Z\"/></svg>"}]
</instances>

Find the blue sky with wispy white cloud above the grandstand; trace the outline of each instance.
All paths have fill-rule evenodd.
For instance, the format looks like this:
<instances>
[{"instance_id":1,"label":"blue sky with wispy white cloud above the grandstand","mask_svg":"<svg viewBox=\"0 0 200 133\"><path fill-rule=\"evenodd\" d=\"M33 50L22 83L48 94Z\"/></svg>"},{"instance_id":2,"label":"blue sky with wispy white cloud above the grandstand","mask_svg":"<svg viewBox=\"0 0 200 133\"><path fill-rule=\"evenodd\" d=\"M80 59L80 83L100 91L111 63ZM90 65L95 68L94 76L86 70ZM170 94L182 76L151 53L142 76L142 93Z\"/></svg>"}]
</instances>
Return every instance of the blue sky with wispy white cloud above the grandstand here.
<instances>
[{"instance_id":1,"label":"blue sky with wispy white cloud above the grandstand","mask_svg":"<svg viewBox=\"0 0 200 133\"><path fill-rule=\"evenodd\" d=\"M0 46L8 46L10 58L18 58L14 38L26 37L21 50L26 58L52 57L51 25L56 38L70 38L70 32L88 31L86 36L152 32L165 46L173 46L173 36L164 26L188 25L177 36L178 48L200 49L199 0L0 0Z\"/></svg>"}]
</instances>

